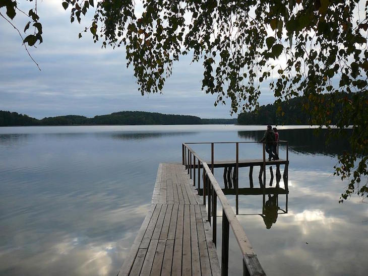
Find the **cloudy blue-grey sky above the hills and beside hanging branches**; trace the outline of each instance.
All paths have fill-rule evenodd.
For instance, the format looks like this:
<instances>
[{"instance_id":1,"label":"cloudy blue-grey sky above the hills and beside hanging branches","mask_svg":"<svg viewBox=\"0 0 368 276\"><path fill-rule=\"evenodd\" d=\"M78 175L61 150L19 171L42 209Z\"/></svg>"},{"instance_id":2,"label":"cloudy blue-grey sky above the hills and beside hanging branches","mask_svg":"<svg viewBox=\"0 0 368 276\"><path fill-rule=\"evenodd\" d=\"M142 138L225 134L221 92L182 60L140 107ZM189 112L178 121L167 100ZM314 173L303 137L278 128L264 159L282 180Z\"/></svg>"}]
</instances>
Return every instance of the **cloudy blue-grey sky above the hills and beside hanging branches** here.
<instances>
[{"instance_id":1,"label":"cloudy blue-grey sky above the hills and beside hanging branches","mask_svg":"<svg viewBox=\"0 0 368 276\"><path fill-rule=\"evenodd\" d=\"M29 4L22 2L19 7L28 11ZM90 23L71 24L70 11L64 11L61 3L37 3L43 43L29 50L41 71L16 30L0 18L0 110L39 119L68 114L93 117L124 110L231 118L229 103L215 107L216 97L201 91L203 65L192 63L190 55L180 56L174 63L162 94L142 96L133 68L126 66L124 47L101 49L90 33L78 39ZM0 11L5 14L4 8ZM20 14L13 20L21 32L27 22ZM273 101L268 87L262 89L260 104Z\"/></svg>"}]
</instances>

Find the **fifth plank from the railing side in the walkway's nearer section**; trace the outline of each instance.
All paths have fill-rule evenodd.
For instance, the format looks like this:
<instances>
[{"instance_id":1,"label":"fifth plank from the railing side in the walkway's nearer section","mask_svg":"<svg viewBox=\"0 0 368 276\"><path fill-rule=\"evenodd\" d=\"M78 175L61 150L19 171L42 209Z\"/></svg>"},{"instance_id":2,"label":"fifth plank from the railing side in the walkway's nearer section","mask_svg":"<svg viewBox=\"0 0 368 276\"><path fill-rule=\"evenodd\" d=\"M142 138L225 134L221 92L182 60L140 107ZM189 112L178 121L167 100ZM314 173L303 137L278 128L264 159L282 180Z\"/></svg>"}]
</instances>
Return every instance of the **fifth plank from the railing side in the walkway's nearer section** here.
<instances>
[{"instance_id":1,"label":"fifth plank from the railing side in the walkway's nearer section","mask_svg":"<svg viewBox=\"0 0 368 276\"><path fill-rule=\"evenodd\" d=\"M174 254L172 257L172 275L181 275L184 206L182 204L178 205Z\"/></svg>"}]
</instances>

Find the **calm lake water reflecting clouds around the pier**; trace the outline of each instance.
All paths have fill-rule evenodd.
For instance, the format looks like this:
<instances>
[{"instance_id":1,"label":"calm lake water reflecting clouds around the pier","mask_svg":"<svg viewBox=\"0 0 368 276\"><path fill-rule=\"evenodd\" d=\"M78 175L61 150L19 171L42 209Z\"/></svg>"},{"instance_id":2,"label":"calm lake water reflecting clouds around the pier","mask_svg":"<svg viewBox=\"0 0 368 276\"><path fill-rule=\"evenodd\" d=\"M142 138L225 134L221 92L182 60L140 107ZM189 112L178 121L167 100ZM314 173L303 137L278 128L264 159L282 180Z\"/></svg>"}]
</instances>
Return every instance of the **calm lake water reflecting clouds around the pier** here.
<instances>
[{"instance_id":1,"label":"calm lake water reflecting clouds around the pier","mask_svg":"<svg viewBox=\"0 0 368 276\"><path fill-rule=\"evenodd\" d=\"M366 275L368 204L357 197L339 204L346 183L332 176L346 145L326 148L323 132L315 137L311 129L284 128L280 139L290 141L287 214L267 229L259 215L263 196L239 197L238 219L262 266L268 275ZM180 162L182 142L255 141L263 129L0 128L0 274L116 275L149 209L159 163ZM240 158L261 158L261 149L240 145ZM194 150L209 159L210 146ZM215 146L215 159L234 154L235 147ZM248 172L239 171L240 187L249 187ZM220 184L222 174L215 170ZM235 206L234 196L228 199ZM286 209L285 195L278 205ZM230 274L241 272L240 261L230 235Z\"/></svg>"}]
</instances>

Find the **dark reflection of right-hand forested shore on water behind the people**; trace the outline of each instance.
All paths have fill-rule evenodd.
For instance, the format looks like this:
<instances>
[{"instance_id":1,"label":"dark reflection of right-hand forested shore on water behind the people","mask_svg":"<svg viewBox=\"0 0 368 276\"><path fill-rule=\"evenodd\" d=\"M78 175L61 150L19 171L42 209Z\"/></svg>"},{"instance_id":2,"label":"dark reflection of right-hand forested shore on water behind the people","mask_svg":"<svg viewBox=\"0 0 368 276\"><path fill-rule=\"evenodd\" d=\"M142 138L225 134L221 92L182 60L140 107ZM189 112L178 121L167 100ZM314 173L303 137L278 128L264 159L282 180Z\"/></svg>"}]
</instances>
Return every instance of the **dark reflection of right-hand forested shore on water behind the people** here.
<instances>
[{"instance_id":1,"label":"dark reflection of right-hand forested shore on water behind the people","mask_svg":"<svg viewBox=\"0 0 368 276\"><path fill-rule=\"evenodd\" d=\"M289 148L292 151L300 153L310 154L323 154L336 156L342 154L344 151L349 149L349 143L341 137L334 137L326 144L326 134L329 130L320 129L279 129L280 140L286 140L289 142ZM350 129L345 131L349 132ZM238 137L243 139L251 139L259 141L262 139L264 131L238 131ZM284 147L280 144L280 147Z\"/></svg>"}]
</instances>

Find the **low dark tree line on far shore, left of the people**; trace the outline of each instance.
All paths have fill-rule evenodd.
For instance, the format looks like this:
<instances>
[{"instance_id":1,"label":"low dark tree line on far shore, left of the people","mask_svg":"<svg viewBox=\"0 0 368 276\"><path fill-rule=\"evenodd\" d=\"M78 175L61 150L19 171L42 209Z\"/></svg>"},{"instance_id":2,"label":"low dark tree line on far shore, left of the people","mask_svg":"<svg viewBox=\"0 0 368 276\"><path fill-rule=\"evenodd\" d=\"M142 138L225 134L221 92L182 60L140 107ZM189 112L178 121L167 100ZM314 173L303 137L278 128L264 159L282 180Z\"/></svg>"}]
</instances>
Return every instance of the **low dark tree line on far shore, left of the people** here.
<instances>
[{"instance_id":1,"label":"low dark tree line on far shore, left of the people","mask_svg":"<svg viewBox=\"0 0 368 276\"><path fill-rule=\"evenodd\" d=\"M79 115L45 117L41 120L0 110L0 126L13 125L146 125L146 124L234 124L236 119L201 119L190 115L172 115L143 111L121 111L87 118Z\"/></svg>"}]
</instances>

